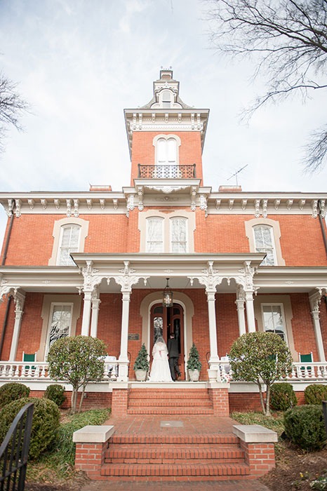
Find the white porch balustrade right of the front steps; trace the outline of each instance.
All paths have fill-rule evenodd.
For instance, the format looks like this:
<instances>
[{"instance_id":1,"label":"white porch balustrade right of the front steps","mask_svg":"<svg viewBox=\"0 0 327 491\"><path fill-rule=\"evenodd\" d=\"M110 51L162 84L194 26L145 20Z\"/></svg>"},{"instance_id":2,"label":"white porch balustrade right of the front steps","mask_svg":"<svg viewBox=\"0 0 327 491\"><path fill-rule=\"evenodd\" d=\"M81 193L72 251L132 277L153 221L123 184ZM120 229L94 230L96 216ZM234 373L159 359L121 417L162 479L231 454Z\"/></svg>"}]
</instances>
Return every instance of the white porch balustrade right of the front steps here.
<instances>
[{"instance_id":1,"label":"white porch balustrade right of the front steps","mask_svg":"<svg viewBox=\"0 0 327 491\"><path fill-rule=\"evenodd\" d=\"M230 365L228 362L220 363L220 377L222 380L230 379L233 380L232 370L230 370ZM314 380L327 380L327 362L298 362L293 363L293 368L291 373L287 377L283 378L289 381L307 381L308 379Z\"/></svg>"}]
</instances>

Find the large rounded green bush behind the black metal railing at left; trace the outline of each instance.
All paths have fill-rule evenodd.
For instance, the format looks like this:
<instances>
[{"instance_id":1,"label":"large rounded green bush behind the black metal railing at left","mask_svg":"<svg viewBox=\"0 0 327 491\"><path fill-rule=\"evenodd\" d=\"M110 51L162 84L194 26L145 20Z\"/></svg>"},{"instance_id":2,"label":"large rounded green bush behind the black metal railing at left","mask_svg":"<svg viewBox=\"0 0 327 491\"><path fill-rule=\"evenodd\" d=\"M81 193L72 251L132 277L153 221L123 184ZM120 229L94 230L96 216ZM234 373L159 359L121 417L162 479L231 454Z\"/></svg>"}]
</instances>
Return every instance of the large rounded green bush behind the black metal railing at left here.
<instances>
[{"instance_id":1,"label":"large rounded green bush behind the black metal railing at left","mask_svg":"<svg viewBox=\"0 0 327 491\"><path fill-rule=\"evenodd\" d=\"M60 412L57 405L49 399L22 398L2 408L0 410L0 441L4 440L13 419L27 403L34 403L29 458L37 459L44 450L51 448L58 434Z\"/></svg>"}]
</instances>

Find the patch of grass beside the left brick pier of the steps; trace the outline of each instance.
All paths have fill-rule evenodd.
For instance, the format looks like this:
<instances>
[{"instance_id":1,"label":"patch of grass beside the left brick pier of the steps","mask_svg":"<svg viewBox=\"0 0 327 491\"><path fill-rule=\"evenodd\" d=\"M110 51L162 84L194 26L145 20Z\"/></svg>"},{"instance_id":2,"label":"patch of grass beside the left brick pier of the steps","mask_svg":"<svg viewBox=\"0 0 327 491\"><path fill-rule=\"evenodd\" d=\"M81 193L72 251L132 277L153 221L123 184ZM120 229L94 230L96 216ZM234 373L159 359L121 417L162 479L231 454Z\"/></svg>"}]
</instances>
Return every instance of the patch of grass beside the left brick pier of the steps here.
<instances>
[{"instance_id":1,"label":"patch of grass beside the left brick pier of the steps","mask_svg":"<svg viewBox=\"0 0 327 491\"><path fill-rule=\"evenodd\" d=\"M72 441L74 431L87 424L103 424L109 417L109 409L84 411L76 415L65 416L60 424L58 437L50 452L45 453L37 462L29 461L27 480L58 483L74 477L75 444Z\"/></svg>"}]
</instances>

